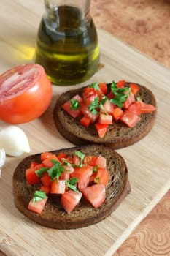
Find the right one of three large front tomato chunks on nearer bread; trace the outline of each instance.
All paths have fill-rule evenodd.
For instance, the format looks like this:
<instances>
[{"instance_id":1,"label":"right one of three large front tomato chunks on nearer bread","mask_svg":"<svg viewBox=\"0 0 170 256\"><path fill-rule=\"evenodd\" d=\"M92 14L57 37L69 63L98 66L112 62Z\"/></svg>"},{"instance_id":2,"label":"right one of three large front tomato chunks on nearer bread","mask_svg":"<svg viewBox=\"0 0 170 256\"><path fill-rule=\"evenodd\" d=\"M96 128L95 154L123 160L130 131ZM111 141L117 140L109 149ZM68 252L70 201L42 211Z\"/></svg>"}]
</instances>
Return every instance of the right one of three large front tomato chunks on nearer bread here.
<instances>
[{"instance_id":1,"label":"right one of three large front tomato chunks on nearer bread","mask_svg":"<svg viewBox=\"0 0 170 256\"><path fill-rule=\"evenodd\" d=\"M95 184L90 187L85 187L85 189L82 189L82 194L95 208L101 206L106 199L106 189L104 184Z\"/></svg>"}]
</instances>

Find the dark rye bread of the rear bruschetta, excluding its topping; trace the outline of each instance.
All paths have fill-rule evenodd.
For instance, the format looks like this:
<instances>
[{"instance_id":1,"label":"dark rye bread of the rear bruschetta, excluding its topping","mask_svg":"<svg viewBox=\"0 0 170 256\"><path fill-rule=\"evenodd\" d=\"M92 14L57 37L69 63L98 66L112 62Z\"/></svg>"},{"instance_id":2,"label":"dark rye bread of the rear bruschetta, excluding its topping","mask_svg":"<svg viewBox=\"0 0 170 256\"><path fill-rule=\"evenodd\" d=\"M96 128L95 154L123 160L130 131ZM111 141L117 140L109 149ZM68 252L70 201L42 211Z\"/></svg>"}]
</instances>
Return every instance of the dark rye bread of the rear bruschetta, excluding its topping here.
<instances>
[{"instance_id":1,"label":"dark rye bread of the rear bruschetta, excluding its topping","mask_svg":"<svg viewBox=\"0 0 170 256\"><path fill-rule=\"evenodd\" d=\"M125 86L129 86L129 84L130 83L125 83ZM110 87L110 84L107 86ZM155 106L156 101L152 91L145 86L139 84L138 86L139 92L136 94L136 97L140 97L145 103ZM82 95L82 91L83 87L66 91L66 93L61 94L55 104L53 112L55 126L58 131L64 138L75 145L97 143L112 146L112 149L124 148L144 138L144 136L150 132L150 129L152 129L156 111L153 113L142 114L141 120L133 128L128 127L122 121L115 121L112 125L109 125L104 138L99 138L94 125L90 125L88 128L83 127L80 125L79 118L72 118L72 116L69 116L69 114L61 108L61 105L71 99L74 95Z\"/></svg>"}]
</instances>

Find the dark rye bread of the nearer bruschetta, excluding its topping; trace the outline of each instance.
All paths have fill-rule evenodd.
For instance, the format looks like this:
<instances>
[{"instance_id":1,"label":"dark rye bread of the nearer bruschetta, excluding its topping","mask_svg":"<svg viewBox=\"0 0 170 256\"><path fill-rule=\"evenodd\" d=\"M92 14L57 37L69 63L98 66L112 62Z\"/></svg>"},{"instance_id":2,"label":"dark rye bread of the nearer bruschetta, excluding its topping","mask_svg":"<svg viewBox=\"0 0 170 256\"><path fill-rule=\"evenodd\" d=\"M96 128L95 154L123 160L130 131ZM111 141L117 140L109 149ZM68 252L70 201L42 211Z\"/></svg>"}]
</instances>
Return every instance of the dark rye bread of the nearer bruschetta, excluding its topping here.
<instances>
[{"instance_id":1,"label":"dark rye bread of the nearer bruschetta, excluding its topping","mask_svg":"<svg viewBox=\"0 0 170 256\"><path fill-rule=\"evenodd\" d=\"M66 154L73 154L74 150L81 151L83 154L95 156L101 154L103 157L106 157L110 179L109 184L107 184L105 202L99 208L93 208L90 203L82 199L74 211L67 214L59 203L59 197L49 196L41 215L29 211L27 208L28 203L38 186L28 185L25 173L31 161L39 162L40 154L35 154L23 159L13 173L15 206L34 222L56 229L74 229L93 225L109 216L131 191L128 181L128 170L120 154L117 154L117 152L110 148L98 145L77 146L64 150L56 150L53 151L53 153L58 154L59 152L65 152Z\"/></svg>"}]
</instances>

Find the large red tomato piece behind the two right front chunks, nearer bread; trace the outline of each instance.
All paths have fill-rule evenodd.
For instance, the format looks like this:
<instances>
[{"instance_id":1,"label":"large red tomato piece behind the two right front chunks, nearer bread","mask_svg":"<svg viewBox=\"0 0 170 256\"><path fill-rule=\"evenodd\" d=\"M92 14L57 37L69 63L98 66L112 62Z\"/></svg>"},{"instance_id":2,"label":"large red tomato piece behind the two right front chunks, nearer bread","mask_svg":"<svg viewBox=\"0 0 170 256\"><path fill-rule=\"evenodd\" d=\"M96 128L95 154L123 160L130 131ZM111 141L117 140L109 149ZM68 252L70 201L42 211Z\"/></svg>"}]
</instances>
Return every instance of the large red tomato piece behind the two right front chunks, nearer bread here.
<instances>
[{"instance_id":1,"label":"large red tomato piece behind the two right front chunks, nearer bread","mask_svg":"<svg viewBox=\"0 0 170 256\"><path fill-rule=\"evenodd\" d=\"M93 173L93 167L84 165L82 167L75 167L74 173L71 173L72 178L78 178L78 189L82 191L89 184L89 178Z\"/></svg>"}]
</instances>

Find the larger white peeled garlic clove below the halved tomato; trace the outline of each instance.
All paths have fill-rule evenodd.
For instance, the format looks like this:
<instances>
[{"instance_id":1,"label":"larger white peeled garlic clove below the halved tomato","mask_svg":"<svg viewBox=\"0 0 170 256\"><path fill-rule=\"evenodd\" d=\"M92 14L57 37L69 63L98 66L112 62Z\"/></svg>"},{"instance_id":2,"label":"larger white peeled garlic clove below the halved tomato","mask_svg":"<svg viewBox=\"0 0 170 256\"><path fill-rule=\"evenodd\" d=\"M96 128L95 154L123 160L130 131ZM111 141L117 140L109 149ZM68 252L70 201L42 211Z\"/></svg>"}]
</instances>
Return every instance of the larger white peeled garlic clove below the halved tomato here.
<instances>
[{"instance_id":1,"label":"larger white peeled garlic clove below the halved tomato","mask_svg":"<svg viewBox=\"0 0 170 256\"><path fill-rule=\"evenodd\" d=\"M0 148L4 148L7 155L18 157L30 152L28 138L25 132L15 125L9 125L0 131Z\"/></svg>"}]
</instances>

